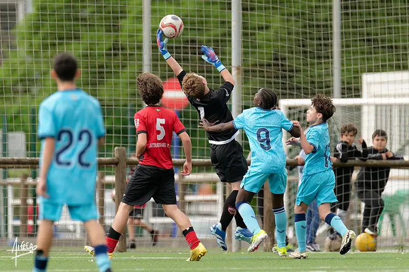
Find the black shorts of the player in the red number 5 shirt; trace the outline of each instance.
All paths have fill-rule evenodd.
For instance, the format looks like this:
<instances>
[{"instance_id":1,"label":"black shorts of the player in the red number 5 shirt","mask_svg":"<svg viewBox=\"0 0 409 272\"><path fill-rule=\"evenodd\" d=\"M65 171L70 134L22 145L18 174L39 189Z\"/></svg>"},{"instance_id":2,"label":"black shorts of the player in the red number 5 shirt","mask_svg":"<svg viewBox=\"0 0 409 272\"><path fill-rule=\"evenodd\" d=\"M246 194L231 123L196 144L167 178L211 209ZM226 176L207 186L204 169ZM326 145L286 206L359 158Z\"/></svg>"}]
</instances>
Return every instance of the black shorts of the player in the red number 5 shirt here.
<instances>
[{"instance_id":1,"label":"black shorts of the player in the red number 5 shirt","mask_svg":"<svg viewBox=\"0 0 409 272\"><path fill-rule=\"evenodd\" d=\"M175 172L173 168L138 165L126 185L122 202L142 206L151 197L157 204L176 205Z\"/></svg>"}]
</instances>

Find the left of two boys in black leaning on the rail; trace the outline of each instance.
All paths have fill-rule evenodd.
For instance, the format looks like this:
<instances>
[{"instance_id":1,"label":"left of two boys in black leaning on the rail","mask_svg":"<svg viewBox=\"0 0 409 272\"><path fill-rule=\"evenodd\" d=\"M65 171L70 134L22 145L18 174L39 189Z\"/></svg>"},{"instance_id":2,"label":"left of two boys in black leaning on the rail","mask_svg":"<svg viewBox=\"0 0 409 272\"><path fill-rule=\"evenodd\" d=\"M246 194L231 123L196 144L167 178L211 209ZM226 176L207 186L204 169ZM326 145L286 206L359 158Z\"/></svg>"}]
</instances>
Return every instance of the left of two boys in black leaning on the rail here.
<instances>
[{"instance_id":1,"label":"left of two boys in black leaning on the rail","mask_svg":"<svg viewBox=\"0 0 409 272\"><path fill-rule=\"evenodd\" d=\"M368 157L367 143L359 138L359 143L362 145L362 151L358 150L355 144L355 138L358 134L358 129L353 123L347 123L340 129L341 141L335 146L333 162L347 162L349 160L366 161ZM349 208L351 197L351 179L354 167L333 167L335 174L335 188L337 203L331 205L331 211L336 213L342 220L346 219L347 210ZM329 237L334 239L337 232L330 229Z\"/></svg>"}]
</instances>

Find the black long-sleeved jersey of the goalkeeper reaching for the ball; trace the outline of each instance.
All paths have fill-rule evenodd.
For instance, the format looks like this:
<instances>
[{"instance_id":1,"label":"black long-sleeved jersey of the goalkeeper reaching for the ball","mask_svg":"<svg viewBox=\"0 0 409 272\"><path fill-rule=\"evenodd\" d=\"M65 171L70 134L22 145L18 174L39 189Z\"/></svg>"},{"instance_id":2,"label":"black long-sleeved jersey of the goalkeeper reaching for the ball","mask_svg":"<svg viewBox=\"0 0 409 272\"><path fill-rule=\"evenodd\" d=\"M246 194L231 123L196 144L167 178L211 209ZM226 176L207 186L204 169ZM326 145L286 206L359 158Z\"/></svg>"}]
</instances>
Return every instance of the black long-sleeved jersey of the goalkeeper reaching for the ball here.
<instances>
[{"instance_id":1,"label":"black long-sleeved jersey of the goalkeeper reaching for the ball","mask_svg":"<svg viewBox=\"0 0 409 272\"><path fill-rule=\"evenodd\" d=\"M186 76L185 71L177 75L180 87L183 89L182 82ZM226 103L229 101L234 85L230 82L224 82L218 90L212 90L202 98L194 98L188 94L188 100L199 113L200 119L206 118L209 122L227 123L233 121L232 113ZM225 144L234 140L239 134L236 129L224 132L208 132L209 143Z\"/></svg>"}]
</instances>

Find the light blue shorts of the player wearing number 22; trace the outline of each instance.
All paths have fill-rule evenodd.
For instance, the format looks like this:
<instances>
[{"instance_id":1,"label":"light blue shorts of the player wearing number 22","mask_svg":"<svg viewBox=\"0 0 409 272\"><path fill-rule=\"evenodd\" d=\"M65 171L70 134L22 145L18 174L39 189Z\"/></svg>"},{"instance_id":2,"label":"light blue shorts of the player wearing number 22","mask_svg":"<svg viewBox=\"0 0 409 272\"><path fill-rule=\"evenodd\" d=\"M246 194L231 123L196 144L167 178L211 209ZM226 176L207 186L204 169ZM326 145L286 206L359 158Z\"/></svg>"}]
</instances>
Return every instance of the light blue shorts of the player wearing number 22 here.
<instances>
[{"instance_id":1,"label":"light blue shorts of the player wearing number 22","mask_svg":"<svg viewBox=\"0 0 409 272\"><path fill-rule=\"evenodd\" d=\"M64 204L57 204L41 200L39 209L39 219L58 221L61 217L61 212ZM86 205L68 206L71 219L86 222L92 219L98 219L98 210L95 203Z\"/></svg>"}]
</instances>

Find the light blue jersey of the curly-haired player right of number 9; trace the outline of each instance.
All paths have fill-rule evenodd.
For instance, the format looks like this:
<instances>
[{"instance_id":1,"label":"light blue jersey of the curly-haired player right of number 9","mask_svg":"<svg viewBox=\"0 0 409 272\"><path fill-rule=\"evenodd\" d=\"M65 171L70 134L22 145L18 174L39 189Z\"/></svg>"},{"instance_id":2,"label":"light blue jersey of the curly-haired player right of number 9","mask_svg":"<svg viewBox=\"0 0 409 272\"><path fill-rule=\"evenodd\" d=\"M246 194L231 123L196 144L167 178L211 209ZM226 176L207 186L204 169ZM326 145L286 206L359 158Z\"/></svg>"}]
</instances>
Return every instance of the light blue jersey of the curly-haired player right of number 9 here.
<instances>
[{"instance_id":1,"label":"light blue jersey of the curly-haired player right of number 9","mask_svg":"<svg viewBox=\"0 0 409 272\"><path fill-rule=\"evenodd\" d=\"M328 123L323 122L319 125L309 127L305 137L314 149L310 154L305 156L303 175L309 176L331 169L332 161Z\"/></svg>"}]
</instances>

